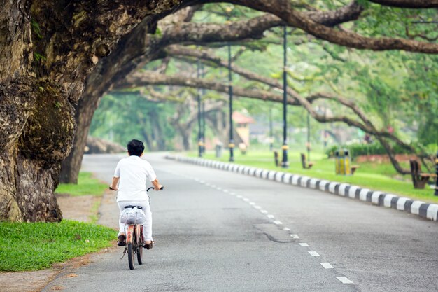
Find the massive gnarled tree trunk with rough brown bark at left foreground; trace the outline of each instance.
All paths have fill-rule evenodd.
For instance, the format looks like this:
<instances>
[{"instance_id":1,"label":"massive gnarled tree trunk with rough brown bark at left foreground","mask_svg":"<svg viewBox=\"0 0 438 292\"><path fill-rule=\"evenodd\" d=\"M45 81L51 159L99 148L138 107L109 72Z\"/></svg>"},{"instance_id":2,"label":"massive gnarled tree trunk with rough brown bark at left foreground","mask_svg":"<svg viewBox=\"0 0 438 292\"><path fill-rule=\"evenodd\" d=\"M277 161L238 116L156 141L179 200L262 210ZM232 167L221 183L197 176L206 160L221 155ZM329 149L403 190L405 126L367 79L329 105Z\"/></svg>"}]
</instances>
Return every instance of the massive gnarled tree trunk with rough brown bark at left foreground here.
<instances>
[{"instance_id":1,"label":"massive gnarled tree trunk with rough brown bark at left foreground","mask_svg":"<svg viewBox=\"0 0 438 292\"><path fill-rule=\"evenodd\" d=\"M178 3L1 2L0 220L62 219L53 190L85 78L141 18Z\"/></svg>"}]
</instances>

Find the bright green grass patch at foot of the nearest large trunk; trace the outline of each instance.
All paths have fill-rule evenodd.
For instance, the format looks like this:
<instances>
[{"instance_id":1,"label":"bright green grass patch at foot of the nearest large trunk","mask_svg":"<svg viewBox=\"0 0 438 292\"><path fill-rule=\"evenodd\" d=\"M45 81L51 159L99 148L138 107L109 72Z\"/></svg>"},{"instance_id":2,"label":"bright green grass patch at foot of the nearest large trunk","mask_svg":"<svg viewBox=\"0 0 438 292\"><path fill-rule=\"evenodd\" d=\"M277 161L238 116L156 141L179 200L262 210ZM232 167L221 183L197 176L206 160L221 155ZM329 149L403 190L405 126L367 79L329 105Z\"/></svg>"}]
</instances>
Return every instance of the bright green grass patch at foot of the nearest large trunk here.
<instances>
[{"instance_id":1,"label":"bright green grass patch at foot of the nearest large trunk","mask_svg":"<svg viewBox=\"0 0 438 292\"><path fill-rule=\"evenodd\" d=\"M42 270L111 246L117 232L101 225L0 222L0 271Z\"/></svg>"}]
</instances>

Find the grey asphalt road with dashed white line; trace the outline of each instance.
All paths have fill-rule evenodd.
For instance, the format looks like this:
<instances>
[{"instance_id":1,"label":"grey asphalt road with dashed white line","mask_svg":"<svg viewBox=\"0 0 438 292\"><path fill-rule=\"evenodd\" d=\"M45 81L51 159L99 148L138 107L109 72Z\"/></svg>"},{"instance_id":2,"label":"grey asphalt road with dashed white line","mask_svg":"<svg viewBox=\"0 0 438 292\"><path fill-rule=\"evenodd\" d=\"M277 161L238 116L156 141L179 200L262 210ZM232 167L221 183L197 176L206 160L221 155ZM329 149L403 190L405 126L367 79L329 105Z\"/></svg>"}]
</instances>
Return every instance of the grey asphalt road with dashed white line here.
<instances>
[{"instance_id":1,"label":"grey asphalt road with dashed white line","mask_svg":"<svg viewBox=\"0 0 438 292\"><path fill-rule=\"evenodd\" d=\"M122 248L44 291L438 291L438 224L318 190L148 154L154 249L129 270ZM86 155L111 181L120 155ZM99 223L117 226L113 197Z\"/></svg>"}]
</instances>

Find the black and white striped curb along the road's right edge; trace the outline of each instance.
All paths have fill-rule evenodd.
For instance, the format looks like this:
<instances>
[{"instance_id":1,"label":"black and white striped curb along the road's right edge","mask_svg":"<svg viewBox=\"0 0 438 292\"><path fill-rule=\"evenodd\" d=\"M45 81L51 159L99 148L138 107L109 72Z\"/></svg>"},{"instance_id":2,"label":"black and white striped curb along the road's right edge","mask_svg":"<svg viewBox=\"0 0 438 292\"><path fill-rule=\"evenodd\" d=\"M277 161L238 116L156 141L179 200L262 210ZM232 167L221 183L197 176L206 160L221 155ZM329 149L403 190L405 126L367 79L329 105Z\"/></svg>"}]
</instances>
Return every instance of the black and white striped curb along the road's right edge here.
<instances>
[{"instance_id":1,"label":"black and white striped curb along the road's right edge","mask_svg":"<svg viewBox=\"0 0 438 292\"><path fill-rule=\"evenodd\" d=\"M260 179L278 181L279 183L291 184L293 186L302 186L304 188L323 190L334 195L351 197L352 199L371 202L377 206L393 208L399 211L416 214L421 218L427 218L432 221L437 221L438 217L438 204L428 204L422 201L414 201L407 197L399 197L397 195L383 193L376 190L369 190L368 188L351 186L349 183L337 183L334 181L326 181L324 179L313 179L309 176L300 176L288 172L277 172L275 170L236 165L234 163L220 162L204 158L190 158L178 155L167 155L166 158L170 160L176 160L178 162L191 163L195 165L226 170L228 172L255 176L259 177Z\"/></svg>"}]
</instances>

